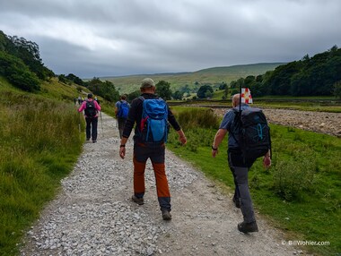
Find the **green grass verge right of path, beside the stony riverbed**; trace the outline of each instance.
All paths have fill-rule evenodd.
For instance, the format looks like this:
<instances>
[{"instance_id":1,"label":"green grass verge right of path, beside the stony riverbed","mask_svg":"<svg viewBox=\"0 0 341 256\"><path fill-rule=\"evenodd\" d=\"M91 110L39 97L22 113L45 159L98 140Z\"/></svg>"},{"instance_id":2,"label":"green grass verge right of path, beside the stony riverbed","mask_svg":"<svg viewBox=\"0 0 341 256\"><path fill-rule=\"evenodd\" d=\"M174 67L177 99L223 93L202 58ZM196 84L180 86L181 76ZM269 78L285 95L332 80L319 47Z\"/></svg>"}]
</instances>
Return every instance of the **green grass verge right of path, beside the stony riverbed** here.
<instances>
[{"instance_id":1,"label":"green grass verge right of path, beside the stony riverbed","mask_svg":"<svg viewBox=\"0 0 341 256\"><path fill-rule=\"evenodd\" d=\"M190 112L191 110L189 110ZM175 107L186 127L187 111ZM211 145L216 129L192 124L186 129L188 145L179 146L177 133L170 132L168 148L188 160L209 178L234 188L227 165L227 141L216 158ZM249 173L251 196L256 209L274 226L286 231L287 240L324 242L328 246L302 249L321 255L341 252L338 235L341 226L341 139L315 132L305 132L281 125L271 125L273 166L265 170L261 159ZM199 156L199 157L198 157ZM240 215L241 218L241 215Z\"/></svg>"}]
</instances>

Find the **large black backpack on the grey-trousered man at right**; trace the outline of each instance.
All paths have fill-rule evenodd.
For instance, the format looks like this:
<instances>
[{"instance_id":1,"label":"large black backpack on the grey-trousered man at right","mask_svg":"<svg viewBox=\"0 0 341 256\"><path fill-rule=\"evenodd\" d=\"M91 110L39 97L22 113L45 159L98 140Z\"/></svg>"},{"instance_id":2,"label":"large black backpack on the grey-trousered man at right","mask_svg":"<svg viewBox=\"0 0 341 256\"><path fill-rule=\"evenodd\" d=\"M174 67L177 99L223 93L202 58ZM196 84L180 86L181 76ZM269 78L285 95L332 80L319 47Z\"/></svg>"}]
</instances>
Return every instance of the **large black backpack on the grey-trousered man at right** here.
<instances>
[{"instance_id":1,"label":"large black backpack on the grey-trousered man at right","mask_svg":"<svg viewBox=\"0 0 341 256\"><path fill-rule=\"evenodd\" d=\"M233 108L235 114L232 134L238 142L246 163L253 163L257 158L265 156L271 150L270 127L267 117L257 107L244 110Z\"/></svg>"}]
</instances>

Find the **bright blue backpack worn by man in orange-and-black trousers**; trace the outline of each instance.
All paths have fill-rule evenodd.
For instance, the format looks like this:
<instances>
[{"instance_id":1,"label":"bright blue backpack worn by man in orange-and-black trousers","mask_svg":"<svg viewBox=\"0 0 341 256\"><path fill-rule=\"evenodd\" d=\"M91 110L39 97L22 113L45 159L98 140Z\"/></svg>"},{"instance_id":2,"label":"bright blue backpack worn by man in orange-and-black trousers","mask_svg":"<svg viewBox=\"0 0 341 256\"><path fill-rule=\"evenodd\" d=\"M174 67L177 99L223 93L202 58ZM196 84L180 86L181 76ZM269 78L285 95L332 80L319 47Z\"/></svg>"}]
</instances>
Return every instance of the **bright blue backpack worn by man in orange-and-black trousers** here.
<instances>
[{"instance_id":1,"label":"bright blue backpack worn by man in orange-and-black trousers","mask_svg":"<svg viewBox=\"0 0 341 256\"><path fill-rule=\"evenodd\" d=\"M143 98L141 137L145 142L166 142L168 135L168 107L162 98Z\"/></svg>"}]
</instances>

